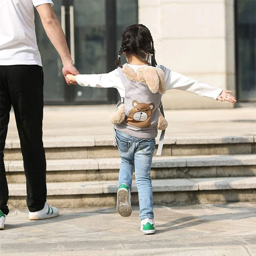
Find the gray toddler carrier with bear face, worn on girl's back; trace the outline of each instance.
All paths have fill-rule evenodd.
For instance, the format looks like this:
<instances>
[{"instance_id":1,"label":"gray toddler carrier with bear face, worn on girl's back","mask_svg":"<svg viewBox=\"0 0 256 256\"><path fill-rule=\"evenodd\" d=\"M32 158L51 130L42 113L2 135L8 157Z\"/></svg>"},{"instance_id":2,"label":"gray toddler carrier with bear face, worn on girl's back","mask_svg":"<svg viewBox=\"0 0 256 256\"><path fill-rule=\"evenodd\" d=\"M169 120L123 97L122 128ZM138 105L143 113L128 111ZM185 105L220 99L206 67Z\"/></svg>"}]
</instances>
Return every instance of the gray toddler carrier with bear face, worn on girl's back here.
<instances>
[{"instance_id":1,"label":"gray toddler carrier with bear face, worn on girl's back","mask_svg":"<svg viewBox=\"0 0 256 256\"><path fill-rule=\"evenodd\" d=\"M164 118L162 95L166 91L166 80L171 70L161 66L143 66L134 70L124 64L118 73L125 88L125 98L121 98L116 111L109 115L114 129L137 138L156 138L157 129L162 130L157 156L161 156L164 133L168 125ZM113 141L114 146L115 140Z\"/></svg>"}]
</instances>

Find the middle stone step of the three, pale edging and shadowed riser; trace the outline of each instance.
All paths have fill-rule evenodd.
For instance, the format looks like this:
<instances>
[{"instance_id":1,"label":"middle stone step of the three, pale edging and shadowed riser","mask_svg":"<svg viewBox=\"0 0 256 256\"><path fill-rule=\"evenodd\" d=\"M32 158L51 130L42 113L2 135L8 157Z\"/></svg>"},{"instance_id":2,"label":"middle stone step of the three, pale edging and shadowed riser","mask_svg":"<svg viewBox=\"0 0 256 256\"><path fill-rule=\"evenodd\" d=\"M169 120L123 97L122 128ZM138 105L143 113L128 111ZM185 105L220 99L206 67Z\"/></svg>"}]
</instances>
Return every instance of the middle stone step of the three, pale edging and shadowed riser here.
<instances>
[{"instance_id":1,"label":"middle stone step of the three, pale edging and shadowed riser","mask_svg":"<svg viewBox=\"0 0 256 256\"><path fill-rule=\"evenodd\" d=\"M117 158L47 160L47 182L117 180L121 160ZM9 183L25 182L23 162L5 161ZM256 154L155 156L151 178L213 178L256 176Z\"/></svg>"}]
</instances>

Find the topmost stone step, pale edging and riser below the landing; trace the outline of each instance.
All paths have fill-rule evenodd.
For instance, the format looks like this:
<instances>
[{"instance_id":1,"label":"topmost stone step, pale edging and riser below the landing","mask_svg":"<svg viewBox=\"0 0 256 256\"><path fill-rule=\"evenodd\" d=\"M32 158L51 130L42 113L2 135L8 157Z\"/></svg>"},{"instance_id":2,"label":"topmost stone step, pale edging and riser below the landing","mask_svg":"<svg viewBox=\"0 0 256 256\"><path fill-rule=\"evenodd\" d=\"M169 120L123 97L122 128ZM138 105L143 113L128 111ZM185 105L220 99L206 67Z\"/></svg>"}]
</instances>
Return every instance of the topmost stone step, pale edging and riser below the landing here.
<instances>
[{"instance_id":1,"label":"topmost stone step, pale edging and riser below the landing","mask_svg":"<svg viewBox=\"0 0 256 256\"><path fill-rule=\"evenodd\" d=\"M156 140L158 142L158 140ZM230 137L166 137L163 156L226 155L256 153L256 135ZM94 139L90 136L44 138L47 159L118 157L111 136ZM21 160L20 141L7 140L5 160Z\"/></svg>"}]
</instances>

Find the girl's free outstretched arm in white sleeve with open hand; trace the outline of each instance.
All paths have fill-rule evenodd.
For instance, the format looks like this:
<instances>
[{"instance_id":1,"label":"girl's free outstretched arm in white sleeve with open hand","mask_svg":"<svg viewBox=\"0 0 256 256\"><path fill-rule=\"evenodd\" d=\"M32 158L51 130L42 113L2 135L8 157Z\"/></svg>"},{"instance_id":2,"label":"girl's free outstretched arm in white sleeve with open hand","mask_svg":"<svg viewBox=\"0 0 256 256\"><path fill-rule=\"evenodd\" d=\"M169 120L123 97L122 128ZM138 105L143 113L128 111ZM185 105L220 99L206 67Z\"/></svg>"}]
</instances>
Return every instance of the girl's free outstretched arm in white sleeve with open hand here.
<instances>
[{"instance_id":1,"label":"girl's free outstretched arm in white sleeve with open hand","mask_svg":"<svg viewBox=\"0 0 256 256\"><path fill-rule=\"evenodd\" d=\"M212 98L214 100L229 101L231 103L236 102L235 97L229 94L232 93L231 91L212 87L209 84L204 84L174 71L171 71L171 74L167 79L166 89L177 89L192 92L200 96Z\"/></svg>"}]
</instances>

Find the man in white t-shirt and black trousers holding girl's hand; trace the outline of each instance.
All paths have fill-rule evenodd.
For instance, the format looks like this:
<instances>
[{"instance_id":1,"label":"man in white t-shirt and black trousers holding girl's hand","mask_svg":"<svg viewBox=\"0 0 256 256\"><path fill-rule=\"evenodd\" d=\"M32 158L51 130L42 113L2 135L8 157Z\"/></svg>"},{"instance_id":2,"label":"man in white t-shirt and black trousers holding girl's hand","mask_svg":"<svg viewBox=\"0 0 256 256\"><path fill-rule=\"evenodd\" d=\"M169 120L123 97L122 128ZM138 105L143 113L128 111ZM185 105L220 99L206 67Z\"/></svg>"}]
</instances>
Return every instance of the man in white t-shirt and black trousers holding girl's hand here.
<instances>
[{"instance_id":1,"label":"man in white t-shirt and black trousers holding girl's hand","mask_svg":"<svg viewBox=\"0 0 256 256\"><path fill-rule=\"evenodd\" d=\"M9 212L4 146L13 106L27 179L29 219L58 216L46 202L46 161L42 141L43 70L36 43L34 7L44 30L59 52L63 75L78 74L73 66L52 0L1 0L0 8L0 229Z\"/></svg>"}]
</instances>

